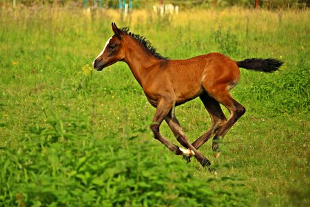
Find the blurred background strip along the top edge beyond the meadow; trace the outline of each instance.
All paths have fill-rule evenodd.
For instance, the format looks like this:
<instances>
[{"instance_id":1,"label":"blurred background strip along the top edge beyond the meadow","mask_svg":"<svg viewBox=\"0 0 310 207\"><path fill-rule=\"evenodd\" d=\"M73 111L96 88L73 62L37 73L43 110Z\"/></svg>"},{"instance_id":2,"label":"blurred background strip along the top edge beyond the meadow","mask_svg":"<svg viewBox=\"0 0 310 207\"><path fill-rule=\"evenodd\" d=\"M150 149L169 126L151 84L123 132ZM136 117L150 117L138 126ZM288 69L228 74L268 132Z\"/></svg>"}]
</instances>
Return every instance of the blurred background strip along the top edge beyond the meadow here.
<instances>
[{"instance_id":1,"label":"blurred background strip along the top edge beyond the meadow","mask_svg":"<svg viewBox=\"0 0 310 207\"><path fill-rule=\"evenodd\" d=\"M118 8L119 3L128 3L129 0L0 0L0 3L23 4L24 6L49 5L49 6L85 6L103 8ZM310 0L132 0L134 8L149 8L153 5L171 3L180 8L225 8L229 6L244 6L255 8L256 3L261 8L305 8L310 6Z\"/></svg>"}]
</instances>

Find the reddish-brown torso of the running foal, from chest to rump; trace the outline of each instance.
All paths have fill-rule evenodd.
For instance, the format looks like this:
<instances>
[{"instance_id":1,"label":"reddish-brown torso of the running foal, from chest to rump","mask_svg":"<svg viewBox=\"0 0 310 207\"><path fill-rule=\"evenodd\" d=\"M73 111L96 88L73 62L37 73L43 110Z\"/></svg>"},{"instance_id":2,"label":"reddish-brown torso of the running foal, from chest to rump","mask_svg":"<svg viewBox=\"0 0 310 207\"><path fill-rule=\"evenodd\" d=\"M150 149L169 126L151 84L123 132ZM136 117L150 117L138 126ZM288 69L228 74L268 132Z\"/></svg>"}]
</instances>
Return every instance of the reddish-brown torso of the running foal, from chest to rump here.
<instances>
[{"instance_id":1,"label":"reddish-brown torso of the running foal, from chest to rump","mask_svg":"<svg viewBox=\"0 0 310 207\"><path fill-rule=\"evenodd\" d=\"M211 92L218 87L230 90L238 83L240 71L236 61L212 52L190 59L169 60L164 67L156 68L152 77L149 87L144 88L147 97L156 99L148 94L174 94L176 105L179 105L200 96L205 90ZM163 83L164 91L161 90Z\"/></svg>"}]
</instances>

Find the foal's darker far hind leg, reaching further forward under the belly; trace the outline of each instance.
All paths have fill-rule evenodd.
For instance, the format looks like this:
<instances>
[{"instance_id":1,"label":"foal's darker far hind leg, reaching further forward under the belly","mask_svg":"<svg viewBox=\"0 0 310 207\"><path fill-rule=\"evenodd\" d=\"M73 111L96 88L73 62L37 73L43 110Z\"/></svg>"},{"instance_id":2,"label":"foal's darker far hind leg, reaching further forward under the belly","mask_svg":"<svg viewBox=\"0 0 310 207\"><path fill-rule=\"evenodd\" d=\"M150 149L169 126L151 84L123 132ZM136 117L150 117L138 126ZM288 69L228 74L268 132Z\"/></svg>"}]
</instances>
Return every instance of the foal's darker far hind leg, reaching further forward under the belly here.
<instances>
[{"instance_id":1,"label":"foal's darker far hind leg, reaching further forward under the belly","mask_svg":"<svg viewBox=\"0 0 310 207\"><path fill-rule=\"evenodd\" d=\"M227 121L218 101L207 95L206 92L200 95L200 100L203 101L203 105L205 105L207 112L209 112L212 123L209 130L207 130L207 132L205 132L198 139L196 139L196 141L194 141L194 143L192 144L196 149L200 148L200 146L205 144L205 142L208 141L210 137L214 135L217 130L222 127Z\"/></svg>"}]
</instances>

